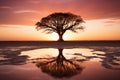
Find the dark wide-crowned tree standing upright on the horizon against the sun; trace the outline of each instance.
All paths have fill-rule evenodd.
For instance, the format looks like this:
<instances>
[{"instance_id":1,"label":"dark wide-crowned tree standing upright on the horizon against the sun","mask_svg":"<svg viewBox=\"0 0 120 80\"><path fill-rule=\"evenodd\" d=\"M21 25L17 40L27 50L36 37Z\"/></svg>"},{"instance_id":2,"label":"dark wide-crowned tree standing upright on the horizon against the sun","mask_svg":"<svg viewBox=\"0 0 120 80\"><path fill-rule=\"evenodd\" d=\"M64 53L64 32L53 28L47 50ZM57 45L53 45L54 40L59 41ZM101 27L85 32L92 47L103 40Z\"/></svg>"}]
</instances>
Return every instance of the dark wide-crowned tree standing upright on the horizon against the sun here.
<instances>
[{"instance_id":1,"label":"dark wide-crowned tree standing upright on the horizon against the sun","mask_svg":"<svg viewBox=\"0 0 120 80\"><path fill-rule=\"evenodd\" d=\"M63 41L63 34L67 30L72 32L83 30L82 22L84 21L80 16L72 13L53 13L37 22L36 29L44 29L48 34L56 32L59 35L58 41Z\"/></svg>"}]
</instances>

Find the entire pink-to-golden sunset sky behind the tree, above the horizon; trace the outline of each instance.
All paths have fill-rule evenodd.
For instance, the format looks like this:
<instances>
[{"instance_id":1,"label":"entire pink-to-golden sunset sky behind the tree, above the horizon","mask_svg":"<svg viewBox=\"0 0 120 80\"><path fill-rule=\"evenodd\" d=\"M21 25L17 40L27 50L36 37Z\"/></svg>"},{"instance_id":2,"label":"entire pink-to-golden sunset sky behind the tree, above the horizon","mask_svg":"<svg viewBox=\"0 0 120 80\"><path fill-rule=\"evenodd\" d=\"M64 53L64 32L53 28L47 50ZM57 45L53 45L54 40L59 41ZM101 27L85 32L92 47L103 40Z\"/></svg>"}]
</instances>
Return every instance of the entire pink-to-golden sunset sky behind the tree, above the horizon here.
<instances>
[{"instance_id":1,"label":"entire pink-to-golden sunset sky behind the tree, above the horizon","mask_svg":"<svg viewBox=\"0 0 120 80\"><path fill-rule=\"evenodd\" d=\"M120 40L120 0L0 0L0 41L57 40L35 23L54 12L71 12L85 21L78 33L64 40Z\"/></svg>"}]
</instances>

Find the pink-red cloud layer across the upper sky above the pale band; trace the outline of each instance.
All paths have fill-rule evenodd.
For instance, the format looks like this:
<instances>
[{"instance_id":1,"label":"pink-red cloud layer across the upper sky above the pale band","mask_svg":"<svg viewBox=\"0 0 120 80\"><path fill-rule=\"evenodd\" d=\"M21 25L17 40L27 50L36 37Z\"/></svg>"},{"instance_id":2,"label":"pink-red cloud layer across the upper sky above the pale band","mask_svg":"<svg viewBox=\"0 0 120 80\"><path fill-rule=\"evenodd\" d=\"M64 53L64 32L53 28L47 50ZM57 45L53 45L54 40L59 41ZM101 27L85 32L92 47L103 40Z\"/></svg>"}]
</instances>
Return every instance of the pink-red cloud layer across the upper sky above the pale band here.
<instances>
[{"instance_id":1,"label":"pink-red cloud layer across the upper sky above the pale band","mask_svg":"<svg viewBox=\"0 0 120 80\"><path fill-rule=\"evenodd\" d=\"M53 12L71 12L81 15L85 20L120 18L120 0L0 0L0 2L2 7L0 24L34 24L29 19L37 20Z\"/></svg>"}]
</instances>

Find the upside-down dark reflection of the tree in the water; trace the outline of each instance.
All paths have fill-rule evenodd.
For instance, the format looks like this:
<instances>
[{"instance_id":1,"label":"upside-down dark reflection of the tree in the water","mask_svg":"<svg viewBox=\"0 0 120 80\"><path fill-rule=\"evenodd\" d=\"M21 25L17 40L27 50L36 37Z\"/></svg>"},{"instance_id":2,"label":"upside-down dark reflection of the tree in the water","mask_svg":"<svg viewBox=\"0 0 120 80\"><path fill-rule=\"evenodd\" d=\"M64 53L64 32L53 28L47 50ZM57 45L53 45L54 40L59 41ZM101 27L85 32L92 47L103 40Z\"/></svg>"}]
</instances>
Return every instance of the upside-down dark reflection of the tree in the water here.
<instances>
[{"instance_id":1,"label":"upside-down dark reflection of the tree in the water","mask_svg":"<svg viewBox=\"0 0 120 80\"><path fill-rule=\"evenodd\" d=\"M71 77L82 72L80 62L68 60L63 56L63 49L58 49L59 54L56 58L44 59L37 61L37 67L42 72L48 73L53 77Z\"/></svg>"}]
</instances>

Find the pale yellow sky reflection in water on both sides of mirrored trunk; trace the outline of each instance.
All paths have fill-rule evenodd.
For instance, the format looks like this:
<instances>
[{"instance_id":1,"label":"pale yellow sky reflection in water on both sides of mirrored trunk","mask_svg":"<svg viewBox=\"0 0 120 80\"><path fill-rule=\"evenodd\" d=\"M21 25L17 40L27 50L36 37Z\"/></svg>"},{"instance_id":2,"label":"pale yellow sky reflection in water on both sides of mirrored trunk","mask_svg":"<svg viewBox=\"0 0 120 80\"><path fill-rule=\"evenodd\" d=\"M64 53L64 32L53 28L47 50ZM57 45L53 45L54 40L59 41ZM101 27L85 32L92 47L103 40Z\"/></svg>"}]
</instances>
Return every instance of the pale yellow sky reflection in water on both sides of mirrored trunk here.
<instances>
[{"instance_id":1,"label":"pale yellow sky reflection in water on both sides of mirrored trunk","mask_svg":"<svg viewBox=\"0 0 120 80\"><path fill-rule=\"evenodd\" d=\"M74 49L64 49L63 55L67 59L70 59L70 58L79 58L80 56L78 55L93 56L95 55L93 54L93 52L98 54L105 54L105 52L103 51L94 51L94 49L89 49L89 48L74 48ZM44 49L22 51L21 55L27 55L29 56L29 59L56 57L58 55L58 49L44 48Z\"/></svg>"}]
</instances>

